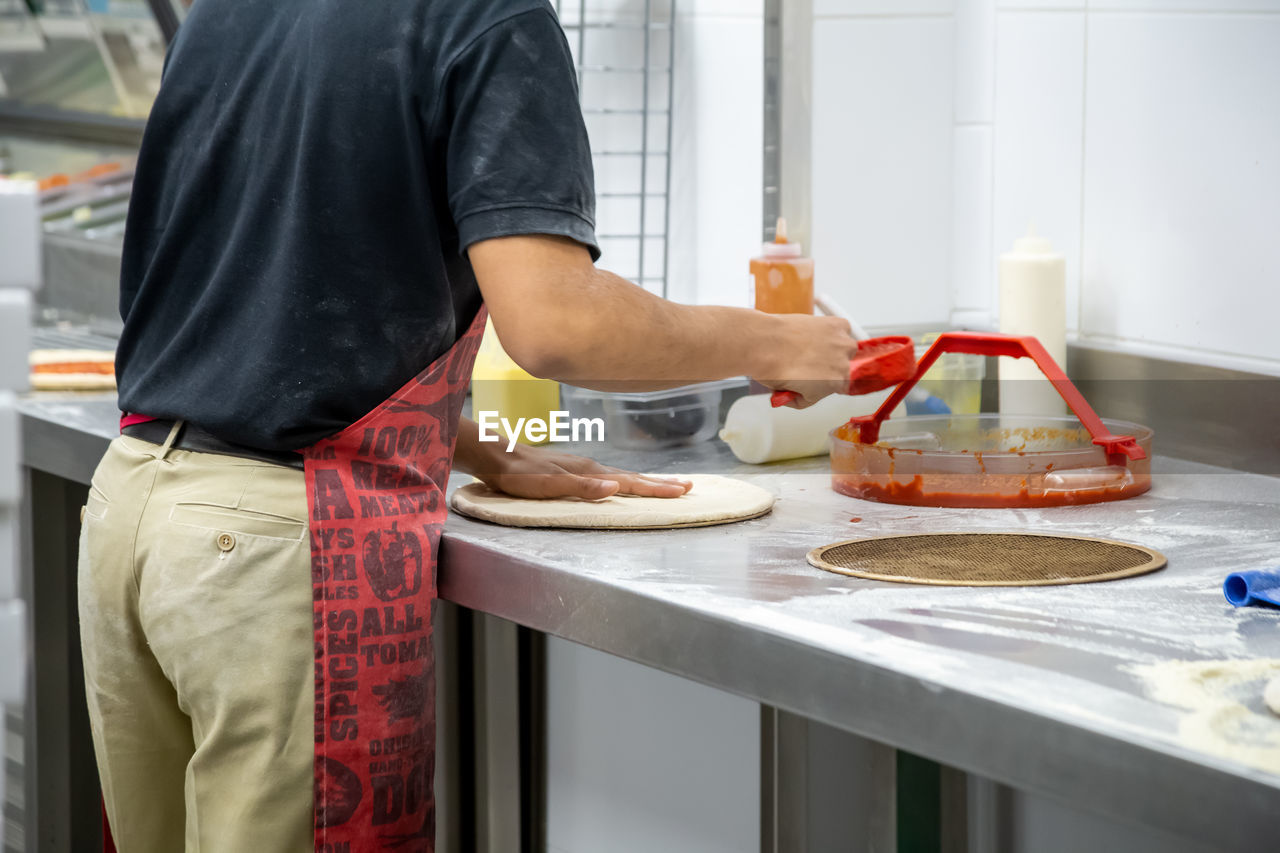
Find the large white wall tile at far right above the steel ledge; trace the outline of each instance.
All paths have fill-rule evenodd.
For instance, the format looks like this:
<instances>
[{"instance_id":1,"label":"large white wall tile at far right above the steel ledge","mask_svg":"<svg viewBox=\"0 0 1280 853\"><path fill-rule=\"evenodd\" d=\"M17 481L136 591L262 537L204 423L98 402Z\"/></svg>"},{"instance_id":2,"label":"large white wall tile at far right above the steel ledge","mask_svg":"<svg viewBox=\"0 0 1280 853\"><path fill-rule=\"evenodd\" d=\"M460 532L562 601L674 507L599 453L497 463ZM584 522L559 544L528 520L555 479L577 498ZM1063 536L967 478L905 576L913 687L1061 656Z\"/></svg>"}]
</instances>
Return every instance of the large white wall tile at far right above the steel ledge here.
<instances>
[{"instance_id":1,"label":"large white wall tile at far right above the steel ledge","mask_svg":"<svg viewBox=\"0 0 1280 853\"><path fill-rule=\"evenodd\" d=\"M1280 15L1089 24L1083 330L1280 361Z\"/></svg>"}]
</instances>

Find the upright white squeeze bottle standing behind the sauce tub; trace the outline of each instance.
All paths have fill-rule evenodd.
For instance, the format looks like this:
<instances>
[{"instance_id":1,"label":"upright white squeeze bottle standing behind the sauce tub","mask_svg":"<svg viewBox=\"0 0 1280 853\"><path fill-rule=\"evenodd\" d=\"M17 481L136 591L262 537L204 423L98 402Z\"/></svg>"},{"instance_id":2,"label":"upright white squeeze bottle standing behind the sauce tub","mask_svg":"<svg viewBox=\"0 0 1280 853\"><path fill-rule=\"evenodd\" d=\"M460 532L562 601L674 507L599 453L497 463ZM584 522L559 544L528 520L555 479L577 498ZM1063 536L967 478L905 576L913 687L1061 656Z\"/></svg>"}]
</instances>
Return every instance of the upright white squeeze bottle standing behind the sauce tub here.
<instances>
[{"instance_id":1,"label":"upright white squeeze bottle standing behind the sauce tub","mask_svg":"<svg viewBox=\"0 0 1280 853\"><path fill-rule=\"evenodd\" d=\"M1066 260L1034 225L1000 256L1000 330L1037 338L1066 370ZM1064 415L1066 403L1034 361L1001 359L1000 411Z\"/></svg>"}]
</instances>

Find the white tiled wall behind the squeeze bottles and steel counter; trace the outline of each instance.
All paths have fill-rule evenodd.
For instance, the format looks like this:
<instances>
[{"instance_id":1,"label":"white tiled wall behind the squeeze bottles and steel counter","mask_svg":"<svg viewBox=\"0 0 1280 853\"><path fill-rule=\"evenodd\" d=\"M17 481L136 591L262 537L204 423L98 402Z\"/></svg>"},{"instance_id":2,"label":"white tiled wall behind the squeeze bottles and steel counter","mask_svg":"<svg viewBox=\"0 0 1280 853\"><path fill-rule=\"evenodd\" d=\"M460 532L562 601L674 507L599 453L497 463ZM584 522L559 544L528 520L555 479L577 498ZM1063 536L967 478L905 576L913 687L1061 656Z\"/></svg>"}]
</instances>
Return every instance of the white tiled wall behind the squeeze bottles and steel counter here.
<instances>
[{"instance_id":1,"label":"white tiled wall behind the squeeze bottles and steel counter","mask_svg":"<svg viewBox=\"0 0 1280 853\"><path fill-rule=\"evenodd\" d=\"M1280 371L1280 0L812 0L819 289L995 320L1034 222L1082 342ZM741 304L759 0L681 5L672 293Z\"/></svg>"}]
</instances>

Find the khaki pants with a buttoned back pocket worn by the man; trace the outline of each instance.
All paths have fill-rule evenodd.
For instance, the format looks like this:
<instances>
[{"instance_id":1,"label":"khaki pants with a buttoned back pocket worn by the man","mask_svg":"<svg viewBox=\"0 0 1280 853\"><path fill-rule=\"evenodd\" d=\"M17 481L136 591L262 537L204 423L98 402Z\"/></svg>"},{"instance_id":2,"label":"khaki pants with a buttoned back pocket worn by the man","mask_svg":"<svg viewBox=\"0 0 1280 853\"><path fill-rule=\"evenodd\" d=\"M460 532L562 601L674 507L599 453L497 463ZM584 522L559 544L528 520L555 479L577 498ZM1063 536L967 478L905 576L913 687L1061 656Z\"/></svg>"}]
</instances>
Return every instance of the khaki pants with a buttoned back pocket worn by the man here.
<instances>
[{"instance_id":1,"label":"khaki pants with a buttoned back pocket worn by the man","mask_svg":"<svg viewBox=\"0 0 1280 853\"><path fill-rule=\"evenodd\" d=\"M129 437L93 475L79 619L120 853L312 850L306 488Z\"/></svg>"}]
</instances>

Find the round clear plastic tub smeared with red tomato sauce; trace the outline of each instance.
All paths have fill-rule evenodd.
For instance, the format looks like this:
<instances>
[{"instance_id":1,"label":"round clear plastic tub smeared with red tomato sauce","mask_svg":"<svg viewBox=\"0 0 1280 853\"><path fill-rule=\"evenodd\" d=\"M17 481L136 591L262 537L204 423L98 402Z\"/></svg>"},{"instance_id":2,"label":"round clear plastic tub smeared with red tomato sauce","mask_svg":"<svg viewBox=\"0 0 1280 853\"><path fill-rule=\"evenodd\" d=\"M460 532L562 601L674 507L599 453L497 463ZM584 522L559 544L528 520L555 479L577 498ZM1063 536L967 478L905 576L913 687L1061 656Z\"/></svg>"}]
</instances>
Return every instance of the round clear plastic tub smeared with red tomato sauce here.
<instances>
[{"instance_id":1,"label":"round clear plastic tub smeared with red tomato sauce","mask_svg":"<svg viewBox=\"0 0 1280 853\"><path fill-rule=\"evenodd\" d=\"M1102 424L1132 435L1143 459L1112 464L1075 418L915 415L886 420L869 444L845 424L831 433L831 485L868 501L952 507L1069 506L1148 491L1152 430Z\"/></svg>"}]
</instances>

